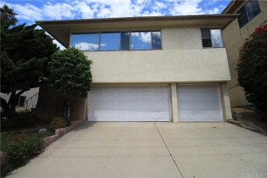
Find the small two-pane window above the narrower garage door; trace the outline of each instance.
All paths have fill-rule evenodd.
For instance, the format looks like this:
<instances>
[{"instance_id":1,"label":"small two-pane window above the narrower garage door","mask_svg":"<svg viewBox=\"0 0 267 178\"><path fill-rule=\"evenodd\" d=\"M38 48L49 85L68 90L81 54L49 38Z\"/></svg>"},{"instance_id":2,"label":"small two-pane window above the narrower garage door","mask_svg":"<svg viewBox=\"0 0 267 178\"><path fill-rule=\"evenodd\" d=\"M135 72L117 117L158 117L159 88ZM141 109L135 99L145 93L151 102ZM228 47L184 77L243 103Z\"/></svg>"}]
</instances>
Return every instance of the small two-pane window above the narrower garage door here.
<instances>
[{"instance_id":1,"label":"small two-pane window above the narrower garage door","mask_svg":"<svg viewBox=\"0 0 267 178\"><path fill-rule=\"evenodd\" d=\"M201 29L203 47L223 47L223 39L220 29Z\"/></svg>"}]
</instances>

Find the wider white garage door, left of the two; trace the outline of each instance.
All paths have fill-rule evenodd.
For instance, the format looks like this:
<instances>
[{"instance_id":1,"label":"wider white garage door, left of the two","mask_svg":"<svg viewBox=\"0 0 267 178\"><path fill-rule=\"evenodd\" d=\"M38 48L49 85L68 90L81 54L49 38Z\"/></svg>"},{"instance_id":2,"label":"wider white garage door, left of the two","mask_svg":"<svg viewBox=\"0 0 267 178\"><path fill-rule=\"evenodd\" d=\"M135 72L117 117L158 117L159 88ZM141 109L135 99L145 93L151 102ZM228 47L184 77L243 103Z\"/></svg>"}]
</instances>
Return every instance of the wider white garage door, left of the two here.
<instances>
[{"instance_id":1,"label":"wider white garage door, left of the two","mask_svg":"<svg viewBox=\"0 0 267 178\"><path fill-rule=\"evenodd\" d=\"M93 86L89 121L169 121L168 86Z\"/></svg>"}]
</instances>

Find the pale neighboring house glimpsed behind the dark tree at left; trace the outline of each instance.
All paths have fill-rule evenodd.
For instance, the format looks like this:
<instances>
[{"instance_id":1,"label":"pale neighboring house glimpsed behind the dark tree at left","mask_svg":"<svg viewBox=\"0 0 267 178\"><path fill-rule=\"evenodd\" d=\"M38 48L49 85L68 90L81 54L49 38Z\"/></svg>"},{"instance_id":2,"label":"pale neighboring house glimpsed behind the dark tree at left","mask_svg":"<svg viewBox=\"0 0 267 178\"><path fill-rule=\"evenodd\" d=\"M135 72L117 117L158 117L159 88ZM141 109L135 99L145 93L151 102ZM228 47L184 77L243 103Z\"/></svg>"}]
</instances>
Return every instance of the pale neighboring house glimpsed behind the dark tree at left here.
<instances>
[{"instance_id":1,"label":"pale neighboring house glimpsed behind the dark tree at left","mask_svg":"<svg viewBox=\"0 0 267 178\"><path fill-rule=\"evenodd\" d=\"M16 111L20 110L31 110L31 108L36 108L38 101L39 88L31 88L27 92L23 92L18 99L16 105ZM1 98L8 102L10 99L10 94L1 93Z\"/></svg>"}]
</instances>

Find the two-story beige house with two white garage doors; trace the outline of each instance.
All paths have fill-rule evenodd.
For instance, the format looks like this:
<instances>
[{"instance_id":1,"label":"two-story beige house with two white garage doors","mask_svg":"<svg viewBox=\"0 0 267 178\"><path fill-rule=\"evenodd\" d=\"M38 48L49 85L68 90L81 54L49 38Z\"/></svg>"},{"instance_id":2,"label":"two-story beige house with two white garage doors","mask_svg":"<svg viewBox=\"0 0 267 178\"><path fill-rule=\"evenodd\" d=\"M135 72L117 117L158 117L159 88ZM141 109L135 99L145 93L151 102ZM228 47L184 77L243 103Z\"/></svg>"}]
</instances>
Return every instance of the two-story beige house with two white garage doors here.
<instances>
[{"instance_id":1,"label":"two-story beige house with two white garage doors","mask_svg":"<svg viewBox=\"0 0 267 178\"><path fill-rule=\"evenodd\" d=\"M221 29L237 14L38 21L64 47L92 64L87 99L71 101L71 119L227 121L230 73ZM63 113L45 84L36 116Z\"/></svg>"}]
</instances>

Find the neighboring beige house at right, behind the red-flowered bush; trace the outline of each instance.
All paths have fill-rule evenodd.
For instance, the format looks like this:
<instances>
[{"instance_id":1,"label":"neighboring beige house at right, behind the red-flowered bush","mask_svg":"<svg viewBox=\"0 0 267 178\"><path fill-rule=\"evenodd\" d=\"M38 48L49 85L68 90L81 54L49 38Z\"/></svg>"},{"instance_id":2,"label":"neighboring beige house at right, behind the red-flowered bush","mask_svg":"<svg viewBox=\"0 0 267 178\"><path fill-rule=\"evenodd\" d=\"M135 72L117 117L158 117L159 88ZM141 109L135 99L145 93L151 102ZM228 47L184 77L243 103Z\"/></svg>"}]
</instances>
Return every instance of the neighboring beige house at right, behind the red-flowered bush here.
<instances>
[{"instance_id":1,"label":"neighboring beige house at right, behind the red-flowered bush","mask_svg":"<svg viewBox=\"0 0 267 178\"><path fill-rule=\"evenodd\" d=\"M238 86L236 64L239 60L238 49L246 38L267 19L267 1L234 1L223 10L222 14L238 13L240 16L223 29L223 39L227 51L231 81L227 82L231 105L248 105L244 91Z\"/></svg>"}]
</instances>

